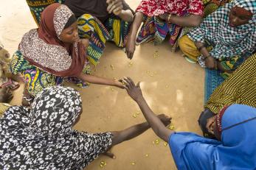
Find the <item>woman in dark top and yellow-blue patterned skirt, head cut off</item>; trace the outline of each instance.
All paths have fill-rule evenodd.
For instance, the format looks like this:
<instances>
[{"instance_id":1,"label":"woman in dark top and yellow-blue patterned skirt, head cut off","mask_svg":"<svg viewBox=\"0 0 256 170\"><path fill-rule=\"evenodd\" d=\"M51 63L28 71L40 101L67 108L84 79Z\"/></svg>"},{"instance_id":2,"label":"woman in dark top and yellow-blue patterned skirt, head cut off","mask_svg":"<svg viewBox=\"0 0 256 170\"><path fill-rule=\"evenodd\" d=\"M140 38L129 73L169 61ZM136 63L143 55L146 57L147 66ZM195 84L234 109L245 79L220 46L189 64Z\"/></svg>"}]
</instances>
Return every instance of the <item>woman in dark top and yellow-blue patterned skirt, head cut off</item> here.
<instances>
[{"instance_id":1,"label":"woman in dark top and yellow-blue patterned skirt, head cut off","mask_svg":"<svg viewBox=\"0 0 256 170\"><path fill-rule=\"evenodd\" d=\"M80 38L89 38L89 60L96 65L107 40L125 47L134 11L125 0L66 0L77 18Z\"/></svg>"}]
</instances>

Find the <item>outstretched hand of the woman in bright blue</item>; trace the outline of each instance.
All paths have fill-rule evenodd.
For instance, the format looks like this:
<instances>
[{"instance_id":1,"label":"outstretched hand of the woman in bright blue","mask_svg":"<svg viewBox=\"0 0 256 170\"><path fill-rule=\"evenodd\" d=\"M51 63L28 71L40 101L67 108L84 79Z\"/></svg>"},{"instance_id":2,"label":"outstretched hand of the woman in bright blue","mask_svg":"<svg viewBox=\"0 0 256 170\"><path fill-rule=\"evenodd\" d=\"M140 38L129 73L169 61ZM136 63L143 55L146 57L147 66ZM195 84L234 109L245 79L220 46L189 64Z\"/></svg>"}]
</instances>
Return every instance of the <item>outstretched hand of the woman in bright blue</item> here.
<instances>
[{"instance_id":1,"label":"outstretched hand of the woman in bright blue","mask_svg":"<svg viewBox=\"0 0 256 170\"><path fill-rule=\"evenodd\" d=\"M125 89L126 89L128 95L131 96L132 99L134 99L136 102L139 99L143 99L142 90L139 87L140 82L138 82L135 85L134 81L130 77L124 77L122 79L122 82L125 83Z\"/></svg>"}]
</instances>

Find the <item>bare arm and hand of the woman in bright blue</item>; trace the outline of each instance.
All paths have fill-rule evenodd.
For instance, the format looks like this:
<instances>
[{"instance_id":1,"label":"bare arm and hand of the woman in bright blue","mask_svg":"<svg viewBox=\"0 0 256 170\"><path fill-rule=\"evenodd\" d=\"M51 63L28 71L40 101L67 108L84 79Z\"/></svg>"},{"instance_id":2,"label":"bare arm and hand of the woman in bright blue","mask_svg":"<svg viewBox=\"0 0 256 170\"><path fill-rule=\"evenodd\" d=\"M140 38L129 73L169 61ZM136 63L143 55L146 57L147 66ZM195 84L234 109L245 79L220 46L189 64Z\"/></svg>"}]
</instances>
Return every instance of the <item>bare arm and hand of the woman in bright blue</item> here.
<instances>
[{"instance_id":1,"label":"bare arm and hand of the woman in bright blue","mask_svg":"<svg viewBox=\"0 0 256 170\"><path fill-rule=\"evenodd\" d=\"M129 77L125 78L124 82L126 91L139 105L139 108L142 110L143 115L145 116L153 131L156 133L156 135L159 136L159 138L162 138L162 140L168 142L170 135L173 133L173 130L167 129L165 124L163 124L162 121L160 121L160 119L153 113L144 97L142 96L139 83L135 85L133 80Z\"/></svg>"}]
</instances>

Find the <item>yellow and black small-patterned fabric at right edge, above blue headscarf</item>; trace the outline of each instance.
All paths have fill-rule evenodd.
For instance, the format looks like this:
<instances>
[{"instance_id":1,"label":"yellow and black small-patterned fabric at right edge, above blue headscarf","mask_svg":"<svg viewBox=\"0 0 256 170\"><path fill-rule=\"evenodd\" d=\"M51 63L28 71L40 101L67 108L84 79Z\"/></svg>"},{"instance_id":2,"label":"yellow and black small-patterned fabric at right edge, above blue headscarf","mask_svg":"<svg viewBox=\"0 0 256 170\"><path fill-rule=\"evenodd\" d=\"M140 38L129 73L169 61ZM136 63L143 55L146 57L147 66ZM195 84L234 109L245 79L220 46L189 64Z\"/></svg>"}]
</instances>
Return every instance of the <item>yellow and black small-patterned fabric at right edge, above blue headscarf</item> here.
<instances>
[{"instance_id":1,"label":"yellow and black small-patterned fabric at right edge, above blue headscarf","mask_svg":"<svg viewBox=\"0 0 256 170\"><path fill-rule=\"evenodd\" d=\"M213 91L205 107L217 114L226 105L256 107L256 54Z\"/></svg>"}]
</instances>

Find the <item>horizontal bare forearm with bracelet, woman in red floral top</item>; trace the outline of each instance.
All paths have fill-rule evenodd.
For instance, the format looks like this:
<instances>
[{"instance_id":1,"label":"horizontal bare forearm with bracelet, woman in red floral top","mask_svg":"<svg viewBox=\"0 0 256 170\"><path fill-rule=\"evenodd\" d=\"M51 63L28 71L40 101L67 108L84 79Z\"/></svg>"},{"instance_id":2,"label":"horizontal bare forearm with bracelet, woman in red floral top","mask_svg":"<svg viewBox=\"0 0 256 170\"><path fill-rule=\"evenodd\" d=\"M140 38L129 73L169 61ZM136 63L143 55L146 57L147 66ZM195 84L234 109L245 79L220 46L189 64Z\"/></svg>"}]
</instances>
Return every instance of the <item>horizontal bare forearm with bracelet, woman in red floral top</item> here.
<instances>
[{"instance_id":1,"label":"horizontal bare forearm with bracelet, woman in red floral top","mask_svg":"<svg viewBox=\"0 0 256 170\"><path fill-rule=\"evenodd\" d=\"M168 22L172 24L177 24L179 26L199 26L201 24L201 16L200 15L188 15L188 16L176 16L171 15L170 20Z\"/></svg>"}]
</instances>

